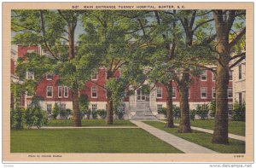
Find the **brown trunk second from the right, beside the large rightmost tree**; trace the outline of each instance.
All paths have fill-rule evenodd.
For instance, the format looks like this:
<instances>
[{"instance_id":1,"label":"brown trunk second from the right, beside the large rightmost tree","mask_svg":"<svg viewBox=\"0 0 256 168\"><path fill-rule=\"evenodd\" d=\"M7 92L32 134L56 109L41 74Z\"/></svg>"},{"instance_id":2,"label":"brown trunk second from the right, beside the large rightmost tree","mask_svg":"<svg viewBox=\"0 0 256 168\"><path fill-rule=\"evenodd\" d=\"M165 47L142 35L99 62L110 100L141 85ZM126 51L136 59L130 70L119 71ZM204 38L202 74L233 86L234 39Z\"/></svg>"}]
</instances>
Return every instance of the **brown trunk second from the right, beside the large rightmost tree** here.
<instances>
[{"instance_id":1,"label":"brown trunk second from the right, beside the large rightmost tree","mask_svg":"<svg viewBox=\"0 0 256 168\"><path fill-rule=\"evenodd\" d=\"M177 131L181 133L191 132L189 120L189 72L186 72L187 70L183 73L182 83L179 85L181 116Z\"/></svg>"}]
</instances>

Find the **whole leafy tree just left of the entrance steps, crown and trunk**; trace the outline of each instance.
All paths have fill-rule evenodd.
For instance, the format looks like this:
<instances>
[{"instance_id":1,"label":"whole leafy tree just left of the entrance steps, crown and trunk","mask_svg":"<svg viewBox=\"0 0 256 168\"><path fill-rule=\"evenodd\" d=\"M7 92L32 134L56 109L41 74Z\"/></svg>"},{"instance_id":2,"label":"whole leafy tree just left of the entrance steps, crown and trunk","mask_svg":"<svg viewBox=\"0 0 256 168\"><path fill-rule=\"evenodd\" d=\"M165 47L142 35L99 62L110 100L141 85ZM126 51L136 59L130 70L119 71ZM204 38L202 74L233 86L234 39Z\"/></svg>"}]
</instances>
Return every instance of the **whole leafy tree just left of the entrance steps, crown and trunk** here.
<instances>
[{"instance_id":1,"label":"whole leafy tree just left of the entrance steps, crown and trunk","mask_svg":"<svg viewBox=\"0 0 256 168\"><path fill-rule=\"evenodd\" d=\"M138 63L144 59L141 43L131 40L132 34L141 28L137 29L137 20L132 20L123 14L125 11L102 10L93 11L89 17L83 18L84 28L88 34L81 36L81 39L90 34L88 45L94 49L102 49L100 52L91 53L91 55L102 58L99 62L101 67L106 69L107 82L104 86L91 82L107 92L106 122L108 125L113 124L113 107L122 101L125 89L131 85L132 81L135 81L131 78L134 78L135 74L137 76L143 74L141 65ZM122 71L122 77L118 75L119 71ZM137 79L142 80L141 78Z\"/></svg>"}]
</instances>

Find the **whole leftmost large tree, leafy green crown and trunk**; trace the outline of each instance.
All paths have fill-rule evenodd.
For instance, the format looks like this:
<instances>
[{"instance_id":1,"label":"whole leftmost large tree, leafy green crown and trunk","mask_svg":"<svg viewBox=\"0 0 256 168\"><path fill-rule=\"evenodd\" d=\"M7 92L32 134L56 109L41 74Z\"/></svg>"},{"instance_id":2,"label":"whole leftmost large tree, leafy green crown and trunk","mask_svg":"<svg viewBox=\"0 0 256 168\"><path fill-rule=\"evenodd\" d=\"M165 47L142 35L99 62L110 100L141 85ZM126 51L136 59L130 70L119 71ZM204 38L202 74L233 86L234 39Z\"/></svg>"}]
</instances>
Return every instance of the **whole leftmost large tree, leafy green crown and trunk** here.
<instances>
[{"instance_id":1,"label":"whole leftmost large tree, leafy green crown and trunk","mask_svg":"<svg viewBox=\"0 0 256 168\"><path fill-rule=\"evenodd\" d=\"M79 10L14 10L12 12L12 30L17 32L13 42L41 45L46 54L40 56L40 59L47 60L50 64L49 69L44 68L44 74L55 72L61 75L60 84L65 84L72 90L73 126L81 126L79 89L98 67L98 60L90 58L90 50L86 50L88 48L84 46L76 46L75 42L79 17L81 14L86 15L87 12ZM86 51L79 52L80 48ZM27 65L36 62L44 67L44 64L37 60L38 55L34 56L34 62L28 60ZM40 75L42 78L43 75ZM38 78L35 81L40 80ZM34 86L36 88L36 85Z\"/></svg>"}]
</instances>

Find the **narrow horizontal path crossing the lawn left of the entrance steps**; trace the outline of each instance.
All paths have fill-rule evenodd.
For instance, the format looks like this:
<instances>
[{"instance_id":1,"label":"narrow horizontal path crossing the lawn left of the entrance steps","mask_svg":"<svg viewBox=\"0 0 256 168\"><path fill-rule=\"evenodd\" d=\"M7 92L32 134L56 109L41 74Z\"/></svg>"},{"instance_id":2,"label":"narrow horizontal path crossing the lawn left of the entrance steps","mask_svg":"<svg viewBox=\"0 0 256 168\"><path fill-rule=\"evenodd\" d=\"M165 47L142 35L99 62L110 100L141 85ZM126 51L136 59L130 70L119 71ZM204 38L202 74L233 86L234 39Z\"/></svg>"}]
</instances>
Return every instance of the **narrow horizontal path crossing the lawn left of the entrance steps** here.
<instances>
[{"instance_id":1,"label":"narrow horizontal path crossing the lawn left of the entrance steps","mask_svg":"<svg viewBox=\"0 0 256 168\"><path fill-rule=\"evenodd\" d=\"M73 127L73 126L43 126L40 129L44 130L52 130L52 129L96 129L96 128L106 128L106 129L117 129L117 128L139 128L137 126L80 126L80 127ZM38 129L36 126L32 126L31 129Z\"/></svg>"}]
</instances>

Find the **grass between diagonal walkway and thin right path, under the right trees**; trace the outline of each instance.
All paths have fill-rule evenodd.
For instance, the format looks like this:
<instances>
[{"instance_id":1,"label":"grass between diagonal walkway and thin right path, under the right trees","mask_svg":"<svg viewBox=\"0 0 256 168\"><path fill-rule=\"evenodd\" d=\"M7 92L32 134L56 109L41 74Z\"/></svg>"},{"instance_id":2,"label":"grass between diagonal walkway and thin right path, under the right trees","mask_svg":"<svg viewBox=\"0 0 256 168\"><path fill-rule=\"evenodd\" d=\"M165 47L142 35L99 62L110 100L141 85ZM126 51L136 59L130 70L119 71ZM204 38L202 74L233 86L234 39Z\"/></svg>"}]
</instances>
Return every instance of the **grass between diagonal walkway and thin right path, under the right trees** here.
<instances>
[{"instance_id":1,"label":"grass between diagonal walkway and thin right path, under the right trees","mask_svg":"<svg viewBox=\"0 0 256 168\"><path fill-rule=\"evenodd\" d=\"M193 130L193 133L178 133L177 128L165 128L165 124L158 121L144 121L148 125L152 125L160 130L165 130L175 136L179 136L189 142L195 142L203 147L210 148L218 153L224 154L245 154L245 142L229 139L229 145L213 144L212 134Z\"/></svg>"}]
</instances>

